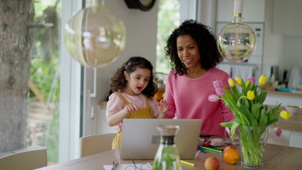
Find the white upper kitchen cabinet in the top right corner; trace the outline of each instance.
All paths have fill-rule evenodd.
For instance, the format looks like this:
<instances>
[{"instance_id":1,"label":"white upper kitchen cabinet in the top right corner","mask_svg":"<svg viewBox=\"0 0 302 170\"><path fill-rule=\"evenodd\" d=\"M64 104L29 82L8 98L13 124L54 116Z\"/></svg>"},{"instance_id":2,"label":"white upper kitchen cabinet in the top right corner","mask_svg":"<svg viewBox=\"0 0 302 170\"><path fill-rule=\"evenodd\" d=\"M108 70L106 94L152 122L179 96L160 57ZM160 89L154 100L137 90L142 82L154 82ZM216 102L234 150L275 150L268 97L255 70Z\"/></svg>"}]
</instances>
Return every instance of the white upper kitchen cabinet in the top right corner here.
<instances>
[{"instance_id":1,"label":"white upper kitchen cabinet in the top right corner","mask_svg":"<svg viewBox=\"0 0 302 170\"><path fill-rule=\"evenodd\" d=\"M274 0L272 33L284 36L302 36L302 1Z\"/></svg>"}]
</instances>

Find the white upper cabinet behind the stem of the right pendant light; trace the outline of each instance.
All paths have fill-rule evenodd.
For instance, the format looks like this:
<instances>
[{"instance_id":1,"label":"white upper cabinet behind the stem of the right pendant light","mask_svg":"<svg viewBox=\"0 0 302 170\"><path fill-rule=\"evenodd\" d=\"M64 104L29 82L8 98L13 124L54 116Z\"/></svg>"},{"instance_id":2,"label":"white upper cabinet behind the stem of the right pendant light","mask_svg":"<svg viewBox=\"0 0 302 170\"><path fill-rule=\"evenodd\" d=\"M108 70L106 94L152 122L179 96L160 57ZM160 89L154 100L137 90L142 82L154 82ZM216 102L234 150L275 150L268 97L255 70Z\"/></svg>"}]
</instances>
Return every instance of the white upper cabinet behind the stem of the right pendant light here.
<instances>
[{"instance_id":1,"label":"white upper cabinet behind the stem of the right pendant light","mask_svg":"<svg viewBox=\"0 0 302 170\"><path fill-rule=\"evenodd\" d=\"M263 0L243 1L243 22L264 23L264 8ZM216 11L216 22L231 23L234 17L234 0L218 0Z\"/></svg>"}]
</instances>

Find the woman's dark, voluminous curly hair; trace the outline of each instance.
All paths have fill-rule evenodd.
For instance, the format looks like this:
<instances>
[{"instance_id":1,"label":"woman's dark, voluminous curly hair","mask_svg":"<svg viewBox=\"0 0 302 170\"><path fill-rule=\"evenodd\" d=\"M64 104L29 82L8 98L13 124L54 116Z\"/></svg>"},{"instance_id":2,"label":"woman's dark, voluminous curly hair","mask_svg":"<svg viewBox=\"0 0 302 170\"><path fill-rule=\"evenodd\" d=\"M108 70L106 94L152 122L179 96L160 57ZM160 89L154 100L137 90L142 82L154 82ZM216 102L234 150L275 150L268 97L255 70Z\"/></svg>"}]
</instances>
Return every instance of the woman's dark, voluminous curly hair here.
<instances>
[{"instance_id":1,"label":"woman's dark, voluminous curly hair","mask_svg":"<svg viewBox=\"0 0 302 170\"><path fill-rule=\"evenodd\" d=\"M176 40L179 36L190 35L198 43L201 68L209 70L223 60L217 49L216 39L211 31L212 28L198 23L198 21L185 20L172 32L167 41L165 53L175 78L177 75L184 75L186 70L186 66L181 62L177 54Z\"/></svg>"}]
</instances>

